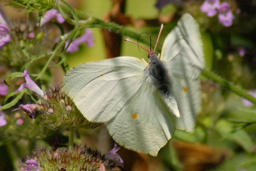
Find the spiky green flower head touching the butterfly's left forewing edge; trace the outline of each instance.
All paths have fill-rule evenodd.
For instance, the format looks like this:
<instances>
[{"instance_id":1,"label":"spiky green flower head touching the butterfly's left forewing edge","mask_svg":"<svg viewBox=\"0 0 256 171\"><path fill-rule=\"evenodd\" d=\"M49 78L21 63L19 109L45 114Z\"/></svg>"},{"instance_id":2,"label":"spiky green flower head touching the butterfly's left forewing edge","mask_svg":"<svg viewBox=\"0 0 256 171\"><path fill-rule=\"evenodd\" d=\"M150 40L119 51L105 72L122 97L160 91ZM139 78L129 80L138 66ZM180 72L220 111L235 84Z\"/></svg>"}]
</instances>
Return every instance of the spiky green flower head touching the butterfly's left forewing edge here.
<instances>
[{"instance_id":1,"label":"spiky green flower head touching the butterfly's left forewing edge","mask_svg":"<svg viewBox=\"0 0 256 171\"><path fill-rule=\"evenodd\" d=\"M40 111L43 123L50 128L69 125L76 128L95 128L102 123L89 122L76 108L72 100L60 91L60 86L48 89L41 98L44 110Z\"/></svg>"}]
</instances>

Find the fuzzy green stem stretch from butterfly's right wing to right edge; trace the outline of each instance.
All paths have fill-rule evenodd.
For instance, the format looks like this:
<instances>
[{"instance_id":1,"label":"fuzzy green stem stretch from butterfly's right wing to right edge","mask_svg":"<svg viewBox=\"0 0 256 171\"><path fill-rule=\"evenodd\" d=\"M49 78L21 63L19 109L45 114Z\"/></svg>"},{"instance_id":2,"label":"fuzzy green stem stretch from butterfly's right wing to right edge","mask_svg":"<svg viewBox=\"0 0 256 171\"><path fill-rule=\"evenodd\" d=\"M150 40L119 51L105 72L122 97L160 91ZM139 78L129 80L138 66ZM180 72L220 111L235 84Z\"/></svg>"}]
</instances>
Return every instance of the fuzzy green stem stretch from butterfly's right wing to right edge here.
<instances>
[{"instance_id":1,"label":"fuzzy green stem stretch from butterfly's right wing to right edge","mask_svg":"<svg viewBox=\"0 0 256 171\"><path fill-rule=\"evenodd\" d=\"M252 95L248 94L248 92L243 90L242 87L240 87L238 85L234 85L231 82L228 82L224 78L221 78L220 76L218 76L208 70L204 70L202 72L202 75L205 76L206 78L209 78L210 80L216 82L217 84L220 84L222 87L229 89L230 91L239 95L240 97L243 97L244 99L247 99L250 102L256 104L256 98L253 97Z\"/></svg>"}]
</instances>

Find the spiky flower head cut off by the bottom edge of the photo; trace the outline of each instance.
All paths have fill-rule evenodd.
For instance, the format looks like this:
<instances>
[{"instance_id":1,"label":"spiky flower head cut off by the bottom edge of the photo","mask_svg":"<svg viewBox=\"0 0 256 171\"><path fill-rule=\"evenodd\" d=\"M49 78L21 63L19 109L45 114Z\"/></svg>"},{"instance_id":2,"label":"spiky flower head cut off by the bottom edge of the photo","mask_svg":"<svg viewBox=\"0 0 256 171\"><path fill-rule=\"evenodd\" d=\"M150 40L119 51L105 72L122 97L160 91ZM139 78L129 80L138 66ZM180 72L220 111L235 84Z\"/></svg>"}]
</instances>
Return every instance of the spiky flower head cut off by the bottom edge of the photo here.
<instances>
[{"instance_id":1,"label":"spiky flower head cut off by the bottom edge of the photo","mask_svg":"<svg viewBox=\"0 0 256 171\"><path fill-rule=\"evenodd\" d=\"M114 161L86 146L77 146L72 151L61 148L54 151L43 147L33 152L33 159L37 161L40 171L121 171ZM22 163L21 167L26 168L27 165Z\"/></svg>"}]
</instances>

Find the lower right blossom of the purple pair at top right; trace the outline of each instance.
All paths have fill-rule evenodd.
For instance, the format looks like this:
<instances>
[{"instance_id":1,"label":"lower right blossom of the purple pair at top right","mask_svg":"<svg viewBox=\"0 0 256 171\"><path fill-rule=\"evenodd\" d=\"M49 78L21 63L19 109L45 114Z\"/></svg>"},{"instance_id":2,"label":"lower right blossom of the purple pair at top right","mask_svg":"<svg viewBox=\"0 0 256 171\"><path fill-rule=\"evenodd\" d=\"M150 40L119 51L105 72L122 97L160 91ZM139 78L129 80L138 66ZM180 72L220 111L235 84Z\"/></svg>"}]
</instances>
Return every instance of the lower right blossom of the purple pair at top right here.
<instances>
[{"instance_id":1,"label":"lower right blossom of the purple pair at top right","mask_svg":"<svg viewBox=\"0 0 256 171\"><path fill-rule=\"evenodd\" d=\"M219 22L224 26L231 26L233 23L234 16L230 10L230 5L226 2L222 3L219 7Z\"/></svg>"}]
</instances>

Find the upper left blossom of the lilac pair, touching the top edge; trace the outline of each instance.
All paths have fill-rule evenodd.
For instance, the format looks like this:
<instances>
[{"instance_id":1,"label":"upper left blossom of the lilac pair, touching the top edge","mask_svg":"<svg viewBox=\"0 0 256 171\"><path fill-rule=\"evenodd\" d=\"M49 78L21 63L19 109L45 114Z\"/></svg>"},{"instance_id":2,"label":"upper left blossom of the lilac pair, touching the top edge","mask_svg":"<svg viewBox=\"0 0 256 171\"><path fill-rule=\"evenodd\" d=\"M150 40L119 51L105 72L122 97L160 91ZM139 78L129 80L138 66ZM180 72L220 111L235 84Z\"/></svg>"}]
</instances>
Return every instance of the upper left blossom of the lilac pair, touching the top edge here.
<instances>
[{"instance_id":1,"label":"upper left blossom of the lilac pair, touching the top edge","mask_svg":"<svg viewBox=\"0 0 256 171\"><path fill-rule=\"evenodd\" d=\"M218 7L220 6L219 0L206 0L201 6L201 11L206 12L207 16L212 17L217 14Z\"/></svg>"}]
</instances>

